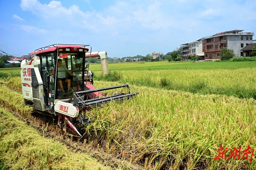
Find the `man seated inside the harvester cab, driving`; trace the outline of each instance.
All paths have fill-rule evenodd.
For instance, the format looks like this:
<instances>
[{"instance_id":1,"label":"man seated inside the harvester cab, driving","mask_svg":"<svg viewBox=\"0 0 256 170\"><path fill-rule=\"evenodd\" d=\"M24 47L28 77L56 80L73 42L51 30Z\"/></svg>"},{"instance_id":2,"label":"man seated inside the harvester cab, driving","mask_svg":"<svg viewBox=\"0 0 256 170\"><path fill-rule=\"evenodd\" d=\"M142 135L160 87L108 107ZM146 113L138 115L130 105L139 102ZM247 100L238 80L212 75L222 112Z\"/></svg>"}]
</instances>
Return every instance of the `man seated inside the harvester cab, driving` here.
<instances>
[{"instance_id":1,"label":"man seated inside the harvester cab, driving","mask_svg":"<svg viewBox=\"0 0 256 170\"><path fill-rule=\"evenodd\" d=\"M66 77L66 72L68 72L68 74L70 74L71 76L76 78L76 76L71 71L68 71L68 69L67 69L67 67L65 67L65 65L62 65L62 60L58 59L58 82L59 82L60 89L62 90L62 92L65 92L64 88L63 88L62 81L65 81L66 83L68 83L68 92L70 90L71 80Z\"/></svg>"}]
</instances>

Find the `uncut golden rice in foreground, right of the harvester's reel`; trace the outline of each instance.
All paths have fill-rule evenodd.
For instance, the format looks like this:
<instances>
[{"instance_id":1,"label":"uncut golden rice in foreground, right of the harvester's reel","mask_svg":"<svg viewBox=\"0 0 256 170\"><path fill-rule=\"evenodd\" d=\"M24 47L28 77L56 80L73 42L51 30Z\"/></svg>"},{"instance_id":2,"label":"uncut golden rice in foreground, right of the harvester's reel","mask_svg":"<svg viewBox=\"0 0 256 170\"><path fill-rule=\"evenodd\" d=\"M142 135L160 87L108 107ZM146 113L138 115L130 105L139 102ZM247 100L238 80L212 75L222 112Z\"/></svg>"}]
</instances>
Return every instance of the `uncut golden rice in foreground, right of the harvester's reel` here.
<instances>
[{"instance_id":1,"label":"uncut golden rice in foreground, right of the harvester's reel","mask_svg":"<svg viewBox=\"0 0 256 170\"><path fill-rule=\"evenodd\" d=\"M8 86L19 81L11 78ZM120 83L95 81L94 85L100 88L117 84ZM220 145L255 148L254 99L135 88L140 94L132 100L111 102L88 112L97 118L84 127L87 140L100 144L100 149L117 158L125 153L125 159L146 164L149 169L235 169L241 165L256 168L255 157L252 162L213 159ZM6 90L0 93L6 96Z\"/></svg>"}]
</instances>

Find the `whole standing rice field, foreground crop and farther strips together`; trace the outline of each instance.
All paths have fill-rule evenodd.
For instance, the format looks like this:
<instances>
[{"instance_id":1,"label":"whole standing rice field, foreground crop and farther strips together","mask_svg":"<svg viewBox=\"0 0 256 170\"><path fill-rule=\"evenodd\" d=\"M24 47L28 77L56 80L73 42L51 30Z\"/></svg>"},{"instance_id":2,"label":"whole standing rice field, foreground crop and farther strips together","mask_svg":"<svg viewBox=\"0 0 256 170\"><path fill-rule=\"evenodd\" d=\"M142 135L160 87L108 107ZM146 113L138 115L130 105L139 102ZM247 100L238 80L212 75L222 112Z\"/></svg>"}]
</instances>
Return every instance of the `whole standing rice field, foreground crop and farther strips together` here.
<instances>
[{"instance_id":1,"label":"whole standing rice field, foreground crop and farther strips together","mask_svg":"<svg viewBox=\"0 0 256 170\"><path fill-rule=\"evenodd\" d=\"M125 70L122 65L124 71L115 71L121 80L94 81L97 88L130 82L139 95L89 111L88 116L96 115L97 118L84 127L87 141L95 149L99 144L101 150L116 158L142 164L145 169L256 169L256 151L251 161L234 156L228 159L234 147L241 147L241 157L248 145L256 149L256 100L252 95L255 63L242 67L237 65L239 62L211 62L229 64L230 68L226 69L225 65L207 69L214 66L208 65L210 62L180 63L177 65L183 69ZM201 64L202 68L184 69L186 64ZM109 68L113 65L109 64ZM91 65L90 70L93 67ZM112 73L101 77L98 76L100 71L94 71L95 78L103 80L111 80ZM13 93L19 96L19 84L19 77L12 77L8 78L6 86L17 91ZM182 85L185 90L172 90ZM220 92L223 89L231 93ZM3 101L8 106L8 103L22 102L21 95L20 99L5 99L7 93L6 88L0 89L2 106ZM28 112L24 106L15 109ZM226 160L214 159L220 145L228 148Z\"/></svg>"}]
</instances>

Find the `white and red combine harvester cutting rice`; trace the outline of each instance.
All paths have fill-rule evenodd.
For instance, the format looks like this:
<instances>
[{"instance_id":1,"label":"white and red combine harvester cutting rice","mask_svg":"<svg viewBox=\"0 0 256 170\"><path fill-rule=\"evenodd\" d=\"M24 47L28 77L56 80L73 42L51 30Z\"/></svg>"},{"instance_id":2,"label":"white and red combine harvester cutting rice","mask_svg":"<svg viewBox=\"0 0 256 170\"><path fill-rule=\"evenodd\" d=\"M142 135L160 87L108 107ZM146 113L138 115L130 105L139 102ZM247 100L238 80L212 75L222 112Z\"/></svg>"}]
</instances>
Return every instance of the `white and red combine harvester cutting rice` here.
<instances>
[{"instance_id":1,"label":"white and red combine harvester cutting rice","mask_svg":"<svg viewBox=\"0 0 256 170\"><path fill-rule=\"evenodd\" d=\"M41 114L58 116L63 131L82 136L75 125L90 122L86 116L90 107L138 94L130 92L127 84L96 89L86 64L86 59L95 57L101 61L102 73L108 74L107 52L92 53L90 45L54 44L35 50L31 60L21 62L23 104Z\"/></svg>"}]
</instances>

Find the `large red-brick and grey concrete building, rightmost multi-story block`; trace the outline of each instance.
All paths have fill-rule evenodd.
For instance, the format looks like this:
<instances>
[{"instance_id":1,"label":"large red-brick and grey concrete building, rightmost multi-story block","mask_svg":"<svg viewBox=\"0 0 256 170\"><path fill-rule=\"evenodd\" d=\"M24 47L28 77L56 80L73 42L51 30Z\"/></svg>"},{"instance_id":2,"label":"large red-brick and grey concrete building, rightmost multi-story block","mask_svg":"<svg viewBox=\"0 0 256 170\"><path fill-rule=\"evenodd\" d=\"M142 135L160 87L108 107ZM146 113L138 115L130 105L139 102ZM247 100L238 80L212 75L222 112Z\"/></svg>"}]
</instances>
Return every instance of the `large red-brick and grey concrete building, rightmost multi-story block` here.
<instances>
[{"instance_id":1,"label":"large red-brick and grey concrete building, rightmost multi-story block","mask_svg":"<svg viewBox=\"0 0 256 170\"><path fill-rule=\"evenodd\" d=\"M225 31L202 38L204 59L220 59L220 51L223 48L232 49L236 57L243 56L241 49L252 43L252 36L254 35L251 32L243 33L243 31Z\"/></svg>"}]
</instances>

